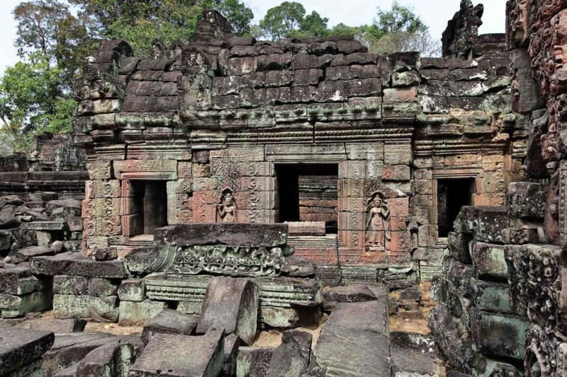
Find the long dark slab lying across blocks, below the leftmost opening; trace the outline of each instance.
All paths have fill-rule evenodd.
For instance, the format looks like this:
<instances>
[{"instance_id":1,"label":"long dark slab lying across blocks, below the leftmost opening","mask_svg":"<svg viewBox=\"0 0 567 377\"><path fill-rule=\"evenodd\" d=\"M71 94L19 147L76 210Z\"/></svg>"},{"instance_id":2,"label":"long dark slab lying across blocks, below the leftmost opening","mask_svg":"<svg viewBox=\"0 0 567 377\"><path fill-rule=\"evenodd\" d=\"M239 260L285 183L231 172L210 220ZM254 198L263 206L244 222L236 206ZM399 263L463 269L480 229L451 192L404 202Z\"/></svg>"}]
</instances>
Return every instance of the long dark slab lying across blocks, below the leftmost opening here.
<instances>
[{"instance_id":1,"label":"long dark slab lying across blocks, below the leftmost opening","mask_svg":"<svg viewBox=\"0 0 567 377\"><path fill-rule=\"evenodd\" d=\"M128 276L121 260L97 262L82 257L80 253L62 253L52 257L33 257L31 271L38 275L77 275L83 277L103 277L123 279Z\"/></svg>"}]
</instances>

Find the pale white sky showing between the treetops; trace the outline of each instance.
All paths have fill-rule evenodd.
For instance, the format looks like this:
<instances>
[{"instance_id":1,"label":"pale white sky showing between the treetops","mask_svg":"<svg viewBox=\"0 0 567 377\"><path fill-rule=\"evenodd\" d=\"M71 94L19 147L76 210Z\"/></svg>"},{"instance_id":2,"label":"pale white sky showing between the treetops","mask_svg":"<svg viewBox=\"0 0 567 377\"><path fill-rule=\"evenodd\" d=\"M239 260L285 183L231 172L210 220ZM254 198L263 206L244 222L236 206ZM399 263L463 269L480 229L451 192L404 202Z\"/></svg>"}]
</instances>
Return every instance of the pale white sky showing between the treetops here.
<instances>
[{"instance_id":1,"label":"pale white sky showing between the treetops","mask_svg":"<svg viewBox=\"0 0 567 377\"><path fill-rule=\"evenodd\" d=\"M389 9L392 0L296 0L305 6L308 13L318 11L321 16L329 18L329 26L337 23L346 25L363 25L371 23L376 16L376 8ZM398 0L400 4L412 6L422 21L429 26L433 37L441 39L447 21L459 10L460 0ZM6 66L18 61L16 47L16 23L12 18L13 8L20 0L0 0L0 72ZM254 21L264 17L266 11L281 4L283 0L245 0L252 11ZM483 25L479 33L504 33L506 0L473 0L473 4L484 4Z\"/></svg>"}]
</instances>

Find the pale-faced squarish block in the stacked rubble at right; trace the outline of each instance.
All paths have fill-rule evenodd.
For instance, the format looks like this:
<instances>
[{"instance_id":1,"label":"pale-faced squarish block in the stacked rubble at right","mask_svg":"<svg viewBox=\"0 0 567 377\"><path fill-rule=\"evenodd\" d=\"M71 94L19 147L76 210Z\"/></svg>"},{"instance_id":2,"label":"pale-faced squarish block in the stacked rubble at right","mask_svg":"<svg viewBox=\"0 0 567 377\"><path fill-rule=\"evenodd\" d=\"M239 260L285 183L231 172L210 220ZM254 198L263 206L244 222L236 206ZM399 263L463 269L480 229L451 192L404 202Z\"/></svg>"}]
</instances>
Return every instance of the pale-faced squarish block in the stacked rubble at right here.
<instances>
[{"instance_id":1,"label":"pale-faced squarish block in the stacked rubble at right","mask_svg":"<svg viewBox=\"0 0 567 377\"><path fill-rule=\"evenodd\" d=\"M478 279L507 282L508 267L504 255L504 245L492 243L471 243L473 269Z\"/></svg>"}]
</instances>

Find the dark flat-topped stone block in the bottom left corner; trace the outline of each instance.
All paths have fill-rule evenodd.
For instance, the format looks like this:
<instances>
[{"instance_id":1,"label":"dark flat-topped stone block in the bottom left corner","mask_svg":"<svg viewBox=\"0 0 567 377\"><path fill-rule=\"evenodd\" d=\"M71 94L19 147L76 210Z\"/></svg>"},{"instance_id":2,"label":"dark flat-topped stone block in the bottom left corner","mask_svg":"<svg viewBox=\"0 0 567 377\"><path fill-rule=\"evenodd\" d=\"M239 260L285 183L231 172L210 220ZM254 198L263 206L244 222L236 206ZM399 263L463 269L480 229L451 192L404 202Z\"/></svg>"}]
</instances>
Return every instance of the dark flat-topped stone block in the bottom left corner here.
<instances>
[{"instance_id":1,"label":"dark flat-topped stone block in the bottom left corner","mask_svg":"<svg viewBox=\"0 0 567 377\"><path fill-rule=\"evenodd\" d=\"M37 371L41 357L54 341L53 332L0 327L1 376L28 376L26 372L32 376L39 375L30 372Z\"/></svg>"}]
</instances>

